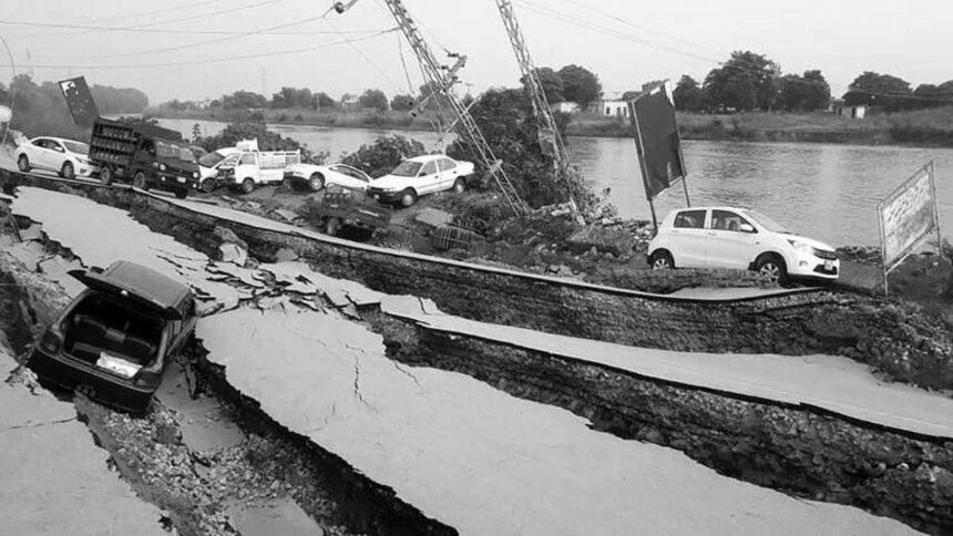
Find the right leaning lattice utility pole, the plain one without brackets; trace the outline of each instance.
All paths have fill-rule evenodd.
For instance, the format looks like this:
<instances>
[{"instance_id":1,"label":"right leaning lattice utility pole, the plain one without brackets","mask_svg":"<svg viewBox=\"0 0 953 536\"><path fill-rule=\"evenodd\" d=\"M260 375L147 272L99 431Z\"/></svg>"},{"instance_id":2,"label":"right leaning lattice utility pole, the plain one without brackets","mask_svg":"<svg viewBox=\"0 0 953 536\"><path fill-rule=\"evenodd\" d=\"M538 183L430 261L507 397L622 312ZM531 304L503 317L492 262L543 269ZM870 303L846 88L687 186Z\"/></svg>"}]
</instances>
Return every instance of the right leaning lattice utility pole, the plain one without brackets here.
<instances>
[{"instance_id":1,"label":"right leaning lattice utility pole, the plain one without brackets","mask_svg":"<svg viewBox=\"0 0 953 536\"><path fill-rule=\"evenodd\" d=\"M510 44L513 47L513 52L516 53L516 62L520 64L520 71L523 73L523 83L526 85L526 92L530 94L530 102L533 104L533 114L540 123L537 127L540 148L543 150L543 154L553 158L553 171L555 172L557 179L565 183L570 205L572 206L573 212L576 212L578 208L573 193L573 185L568 178L570 155L566 152L563 137L560 135L560 130L556 126L556 118L553 116L553 111L550 107L546 92L543 90L543 84L536 73L536 68L533 65L533 59L530 56L530 49L526 47L523 31L520 30L520 23L516 21L516 13L513 12L513 4L510 0L496 0L496 7L500 9L500 16L503 19L503 27L506 29L506 34L510 37Z\"/></svg>"}]
</instances>

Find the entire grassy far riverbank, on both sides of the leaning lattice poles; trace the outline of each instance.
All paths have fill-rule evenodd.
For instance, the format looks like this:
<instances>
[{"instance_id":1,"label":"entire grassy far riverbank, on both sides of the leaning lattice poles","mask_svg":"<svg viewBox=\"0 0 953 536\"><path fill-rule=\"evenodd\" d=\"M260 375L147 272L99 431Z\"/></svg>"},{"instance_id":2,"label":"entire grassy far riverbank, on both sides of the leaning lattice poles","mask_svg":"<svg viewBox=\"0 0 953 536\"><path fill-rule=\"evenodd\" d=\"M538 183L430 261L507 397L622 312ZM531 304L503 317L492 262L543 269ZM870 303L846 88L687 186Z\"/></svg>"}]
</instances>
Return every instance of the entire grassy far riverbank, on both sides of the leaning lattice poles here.
<instances>
[{"instance_id":1,"label":"entire grassy far riverbank, on both sides of the leaning lattice poles","mask_svg":"<svg viewBox=\"0 0 953 536\"><path fill-rule=\"evenodd\" d=\"M201 110L173 112L147 110L164 118L249 121L267 123L338 126L348 128L394 128L432 131L433 116L411 116L408 112L285 110ZM870 115L862 120L828 113L742 113L709 115L679 112L685 140L734 140L749 142L846 143L862 145L924 145L953 147L953 106ZM632 127L623 117L595 114L574 115L566 130L571 136L629 137Z\"/></svg>"}]
</instances>

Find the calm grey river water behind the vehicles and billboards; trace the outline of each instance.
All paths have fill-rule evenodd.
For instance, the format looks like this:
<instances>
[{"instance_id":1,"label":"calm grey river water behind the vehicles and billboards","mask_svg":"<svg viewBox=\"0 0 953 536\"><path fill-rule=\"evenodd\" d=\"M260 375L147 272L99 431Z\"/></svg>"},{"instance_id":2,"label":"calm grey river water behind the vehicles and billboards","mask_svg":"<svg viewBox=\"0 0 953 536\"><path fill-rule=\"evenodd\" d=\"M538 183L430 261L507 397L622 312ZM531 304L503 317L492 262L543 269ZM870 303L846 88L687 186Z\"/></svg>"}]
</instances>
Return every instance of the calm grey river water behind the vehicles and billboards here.
<instances>
[{"instance_id":1,"label":"calm grey river water behind the vehicles and billboards","mask_svg":"<svg viewBox=\"0 0 953 536\"><path fill-rule=\"evenodd\" d=\"M160 120L170 128L192 135L196 123L203 134L216 134L226 123ZM397 131L334 128L310 125L270 125L281 135L329 151L331 158ZM400 132L428 147L437 134ZM573 162L597 189L609 188L608 199L627 218L650 219L632 140L571 137ZM693 205L731 205L756 208L792 230L834 246L877 245L877 203L929 161L936 169L940 221L953 221L953 148L878 147L833 144L685 142L688 192ZM658 217L685 205L680 185L656 200Z\"/></svg>"}]
</instances>

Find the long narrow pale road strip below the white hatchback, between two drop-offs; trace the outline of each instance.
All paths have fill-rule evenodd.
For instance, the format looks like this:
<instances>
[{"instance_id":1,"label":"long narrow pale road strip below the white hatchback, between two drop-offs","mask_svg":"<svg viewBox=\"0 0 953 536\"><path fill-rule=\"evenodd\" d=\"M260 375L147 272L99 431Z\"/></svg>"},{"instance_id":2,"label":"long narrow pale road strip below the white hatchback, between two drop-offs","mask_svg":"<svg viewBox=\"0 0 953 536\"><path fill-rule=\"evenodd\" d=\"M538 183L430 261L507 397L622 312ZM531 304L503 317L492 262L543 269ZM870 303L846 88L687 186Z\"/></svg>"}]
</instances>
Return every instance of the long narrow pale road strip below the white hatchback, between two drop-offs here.
<instances>
[{"instance_id":1,"label":"long narrow pale road strip below the white hatchback, between two drop-offs","mask_svg":"<svg viewBox=\"0 0 953 536\"><path fill-rule=\"evenodd\" d=\"M537 350L635 374L785 404L932 437L953 439L953 399L884 383L870 368L834 355L713 354L635 348L444 315L413 297L387 297L381 310L427 328Z\"/></svg>"}]
</instances>

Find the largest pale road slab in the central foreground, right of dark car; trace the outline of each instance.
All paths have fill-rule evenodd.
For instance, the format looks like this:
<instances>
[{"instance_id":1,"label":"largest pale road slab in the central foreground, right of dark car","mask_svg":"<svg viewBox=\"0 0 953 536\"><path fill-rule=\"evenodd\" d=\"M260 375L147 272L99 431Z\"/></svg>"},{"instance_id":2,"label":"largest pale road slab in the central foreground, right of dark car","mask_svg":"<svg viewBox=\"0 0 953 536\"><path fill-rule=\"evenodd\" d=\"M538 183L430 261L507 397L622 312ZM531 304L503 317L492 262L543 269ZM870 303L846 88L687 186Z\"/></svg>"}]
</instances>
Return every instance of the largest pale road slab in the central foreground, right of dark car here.
<instances>
[{"instance_id":1,"label":"largest pale road slab in the central foreground, right of dark car","mask_svg":"<svg viewBox=\"0 0 953 536\"><path fill-rule=\"evenodd\" d=\"M268 415L461 534L912 533L719 476L463 374L402 365L336 315L239 308L197 336Z\"/></svg>"}]
</instances>

